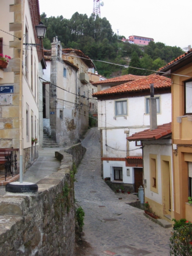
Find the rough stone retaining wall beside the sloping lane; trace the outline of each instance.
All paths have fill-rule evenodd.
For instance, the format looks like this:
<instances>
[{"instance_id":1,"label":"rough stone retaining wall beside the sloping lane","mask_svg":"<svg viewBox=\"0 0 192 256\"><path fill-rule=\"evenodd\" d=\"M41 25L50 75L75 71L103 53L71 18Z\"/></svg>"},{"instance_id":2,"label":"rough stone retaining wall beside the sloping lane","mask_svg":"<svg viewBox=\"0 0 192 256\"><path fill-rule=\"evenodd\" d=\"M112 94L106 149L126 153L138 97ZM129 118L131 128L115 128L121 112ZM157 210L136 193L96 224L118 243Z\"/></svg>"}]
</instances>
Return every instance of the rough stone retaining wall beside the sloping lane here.
<instances>
[{"instance_id":1,"label":"rough stone retaining wall beside the sloping lane","mask_svg":"<svg viewBox=\"0 0 192 256\"><path fill-rule=\"evenodd\" d=\"M73 160L66 152L56 156L61 166L37 182L37 194L0 197L1 256L74 255Z\"/></svg>"}]
</instances>

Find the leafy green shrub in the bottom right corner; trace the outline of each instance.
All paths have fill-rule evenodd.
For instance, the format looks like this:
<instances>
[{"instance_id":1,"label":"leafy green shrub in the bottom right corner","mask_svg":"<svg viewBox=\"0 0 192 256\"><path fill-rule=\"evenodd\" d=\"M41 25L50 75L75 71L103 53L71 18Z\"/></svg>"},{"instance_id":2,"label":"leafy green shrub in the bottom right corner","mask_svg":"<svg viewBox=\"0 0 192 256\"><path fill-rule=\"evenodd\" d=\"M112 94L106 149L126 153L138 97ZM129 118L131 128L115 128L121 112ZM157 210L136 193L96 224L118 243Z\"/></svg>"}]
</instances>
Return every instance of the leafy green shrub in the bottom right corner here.
<instances>
[{"instance_id":1,"label":"leafy green shrub in the bottom right corner","mask_svg":"<svg viewBox=\"0 0 192 256\"><path fill-rule=\"evenodd\" d=\"M175 220L175 219L174 219ZM190 256L192 255L192 223L181 219L175 222L178 226L170 237L170 255Z\"/></svg>"}]
</instances>

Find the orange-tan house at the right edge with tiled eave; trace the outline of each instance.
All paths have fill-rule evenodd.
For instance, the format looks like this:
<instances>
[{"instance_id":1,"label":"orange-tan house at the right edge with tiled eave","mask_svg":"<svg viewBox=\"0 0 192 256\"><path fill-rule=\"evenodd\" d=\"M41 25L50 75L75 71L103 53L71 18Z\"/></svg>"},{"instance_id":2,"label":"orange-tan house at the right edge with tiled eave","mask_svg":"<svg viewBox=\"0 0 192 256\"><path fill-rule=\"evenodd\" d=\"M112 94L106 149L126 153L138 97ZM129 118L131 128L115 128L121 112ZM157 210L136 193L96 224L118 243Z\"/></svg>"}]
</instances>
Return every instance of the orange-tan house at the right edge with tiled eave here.
<instances>
[{"instance_id":1,"label":"orange-tan house at the right edge with tiled eave","mask_svg":"<svg viewBox=\"0 0 192 256\"><path fill-rule=\"evenodd\" d=\"M161 73L162 72L162 73ZM192 221L192 50L159 70L172 79L173 179L175 218Z\"/></svg>"}]
</instances>

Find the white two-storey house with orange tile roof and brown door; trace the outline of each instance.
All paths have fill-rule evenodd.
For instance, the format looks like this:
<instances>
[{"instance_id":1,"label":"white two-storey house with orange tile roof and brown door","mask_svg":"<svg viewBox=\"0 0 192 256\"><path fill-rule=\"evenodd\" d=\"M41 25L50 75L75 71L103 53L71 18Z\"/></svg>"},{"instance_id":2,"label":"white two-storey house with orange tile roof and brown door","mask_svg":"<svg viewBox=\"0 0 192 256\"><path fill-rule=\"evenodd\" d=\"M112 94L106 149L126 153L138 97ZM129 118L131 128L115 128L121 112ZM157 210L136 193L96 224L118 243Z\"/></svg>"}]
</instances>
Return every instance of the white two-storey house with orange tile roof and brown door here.
<instances>
[{"instance_id":1,"label":"white two-storey house with orange tile roof and brown door","mask_svg":"<svg viewBox=\"0 0 192 256\"><path fill-rule=\"evenodd\" d=\"M126 141L126 137L150 126L148 100L151 83L154 83L158 102L157 123L169 122L169 78L150 75L93 95L98 99L102 176L110 177L113 183L124 183L131 191L137 191L143 184L142 145L140 141Z\"/></svg>"}]
</instances>

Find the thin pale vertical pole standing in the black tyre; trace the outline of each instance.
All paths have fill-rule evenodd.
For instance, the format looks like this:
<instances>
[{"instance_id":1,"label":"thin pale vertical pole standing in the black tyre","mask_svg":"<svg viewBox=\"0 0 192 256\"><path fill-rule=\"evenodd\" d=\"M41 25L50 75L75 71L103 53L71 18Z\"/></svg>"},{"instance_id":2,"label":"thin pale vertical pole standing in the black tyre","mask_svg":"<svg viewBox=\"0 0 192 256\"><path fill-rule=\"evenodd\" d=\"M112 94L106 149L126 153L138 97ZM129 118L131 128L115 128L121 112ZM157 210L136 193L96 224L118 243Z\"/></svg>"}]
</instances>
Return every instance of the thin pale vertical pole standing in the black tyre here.
<instances>
[{"instance_id":1,"label":"thin pale vertical pole standing in the black tyre","mask_svg":"<svg viewBox=\"0 0 192 256\"><path fill-rule=\"evenodd\" d=\"M19 181L23 183L23 39L24 39L24 13L25 13L25 0L22 5L22 40L20 41L20 79L19 79Z\"/></svg>"}]
</instances>

